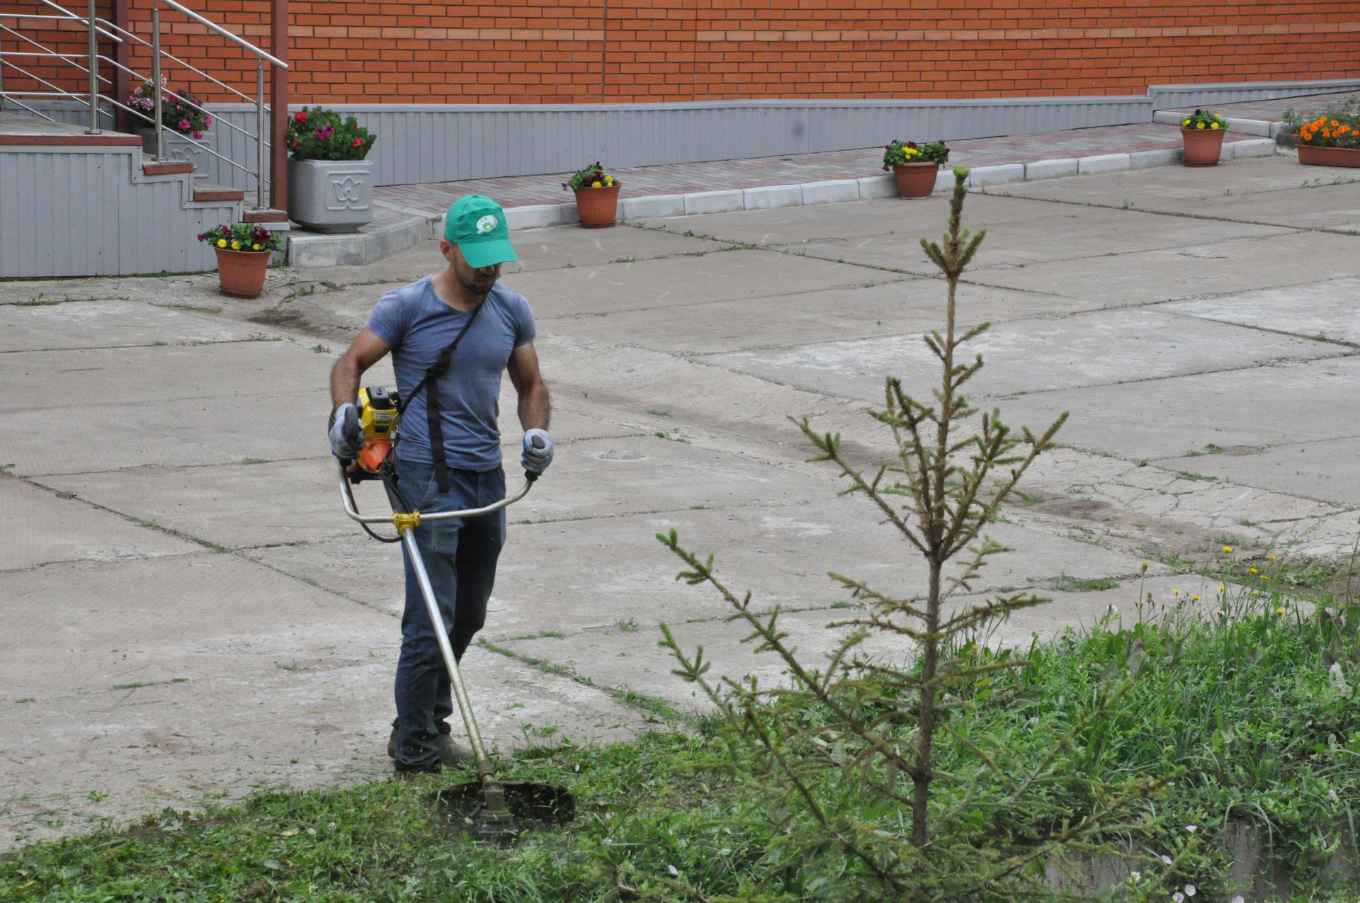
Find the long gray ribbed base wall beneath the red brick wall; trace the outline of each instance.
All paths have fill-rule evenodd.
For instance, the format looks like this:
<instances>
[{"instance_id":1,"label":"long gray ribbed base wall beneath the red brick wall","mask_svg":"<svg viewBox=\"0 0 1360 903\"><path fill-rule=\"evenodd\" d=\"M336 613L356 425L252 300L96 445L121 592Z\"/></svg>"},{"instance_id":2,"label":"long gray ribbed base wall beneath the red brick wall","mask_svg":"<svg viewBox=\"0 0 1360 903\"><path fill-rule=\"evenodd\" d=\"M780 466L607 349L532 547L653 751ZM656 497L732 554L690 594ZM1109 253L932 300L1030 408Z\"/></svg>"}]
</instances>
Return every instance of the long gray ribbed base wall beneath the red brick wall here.
<instances>
[{"instance_id":1,"label":"long gray ribbed base wall beneath the red brick wall","mask_svg":"<svg viewBox=\"0 0 1360 903\"><path fill-rule=\"evenodd\" d=\"M378 135L377 185L566 173L592 160L664 166L877 147L894 137L962 140L1149 122L1156 110L1360 90L1360 79L1159 84L1144 97L981 98L964 101L725 101L612 105L363 105L351 113ZM37 105L34 105L37 106ZM71 105L67 105L71 107ZM253 169L256 110L209 105L207 144ZM64 121L88 118L60 110ZM301 109L291 105L290 110ZM50 114L50 113L49 113ZM211 180L254 190L248 173L214 162ZM253 203L253 199L248 197Z\"/></svg>"}]
</instances>

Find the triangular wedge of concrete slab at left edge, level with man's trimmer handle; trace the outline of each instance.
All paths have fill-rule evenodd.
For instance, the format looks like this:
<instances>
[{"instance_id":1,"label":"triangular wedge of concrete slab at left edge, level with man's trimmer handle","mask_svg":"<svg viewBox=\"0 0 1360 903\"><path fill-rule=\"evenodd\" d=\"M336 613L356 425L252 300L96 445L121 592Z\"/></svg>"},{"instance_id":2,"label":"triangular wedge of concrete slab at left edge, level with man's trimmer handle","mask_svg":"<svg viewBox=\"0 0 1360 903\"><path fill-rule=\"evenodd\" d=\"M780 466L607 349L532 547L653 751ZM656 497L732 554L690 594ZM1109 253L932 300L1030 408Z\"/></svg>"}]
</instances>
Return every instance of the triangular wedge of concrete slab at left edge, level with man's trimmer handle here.
<instances>
[{"instance_id":1,"label":"triangular wedge of concrete slab at left edge, level with man's trimmer handle","mask_svg":"<svg viewBox=\"0 0 1360 903\"><path fill-rule=\"evenodd\" d=\"M86 502L0 477L0 571L53 562L113 562L201 548L137 526Z\"/></svg>"}]
</instances>

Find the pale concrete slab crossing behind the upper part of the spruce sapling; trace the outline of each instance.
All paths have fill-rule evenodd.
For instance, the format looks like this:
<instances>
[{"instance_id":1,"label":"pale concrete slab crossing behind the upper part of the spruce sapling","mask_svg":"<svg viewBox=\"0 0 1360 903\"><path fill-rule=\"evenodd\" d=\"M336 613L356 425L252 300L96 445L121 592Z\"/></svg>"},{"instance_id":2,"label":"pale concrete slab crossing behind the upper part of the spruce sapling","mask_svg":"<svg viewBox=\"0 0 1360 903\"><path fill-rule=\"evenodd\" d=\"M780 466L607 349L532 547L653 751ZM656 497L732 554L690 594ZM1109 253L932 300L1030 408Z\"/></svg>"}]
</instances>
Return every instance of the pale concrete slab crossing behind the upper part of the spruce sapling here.
<instances>
[{"instance_id":1,"label":"pale concrete slab crossing behind the upper part of the spruce sapling","mask_svg":"<svg viewBox=\"0 0 1360 903\"><path fill-rule=\"evenodd\" d=\"M967 288L962 291L966 296ZM976 310L971 301L967 310ZM989 362L970 396L1005 396L1099 386L1276 360L1346 354L1326 343L1235 326L1204 328L1160 310L1108 310L997 324L963 348ZM940 362L921 336L802 344L794 348L710 355L706 362L846 398L876 400L883 374L921 394L938 384ZM1210 363L1212 362L1212 363Z\"/></svg>"}]
</instances>

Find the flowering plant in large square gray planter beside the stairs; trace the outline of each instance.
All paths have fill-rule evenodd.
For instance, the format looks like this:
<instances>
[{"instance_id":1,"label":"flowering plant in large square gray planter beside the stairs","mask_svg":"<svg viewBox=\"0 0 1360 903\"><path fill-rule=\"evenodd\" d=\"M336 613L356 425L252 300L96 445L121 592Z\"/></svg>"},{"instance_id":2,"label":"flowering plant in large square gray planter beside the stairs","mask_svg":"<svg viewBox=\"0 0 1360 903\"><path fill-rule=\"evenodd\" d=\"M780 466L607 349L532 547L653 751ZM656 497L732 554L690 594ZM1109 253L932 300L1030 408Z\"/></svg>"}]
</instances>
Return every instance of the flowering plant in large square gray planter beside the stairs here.
<instances>
[{"instance_id":1,"label":"flowering plant in large square gray planter beside the stairs","mask_svg":"<svg viewBox=\"0 0 1360 903\"><path fill-rule=\"evenodd\" d=\"M373 222L377 136L352 116L305 106L288 118L288 219L318 233L354 233Z\"/></svg>"}]
</instances>

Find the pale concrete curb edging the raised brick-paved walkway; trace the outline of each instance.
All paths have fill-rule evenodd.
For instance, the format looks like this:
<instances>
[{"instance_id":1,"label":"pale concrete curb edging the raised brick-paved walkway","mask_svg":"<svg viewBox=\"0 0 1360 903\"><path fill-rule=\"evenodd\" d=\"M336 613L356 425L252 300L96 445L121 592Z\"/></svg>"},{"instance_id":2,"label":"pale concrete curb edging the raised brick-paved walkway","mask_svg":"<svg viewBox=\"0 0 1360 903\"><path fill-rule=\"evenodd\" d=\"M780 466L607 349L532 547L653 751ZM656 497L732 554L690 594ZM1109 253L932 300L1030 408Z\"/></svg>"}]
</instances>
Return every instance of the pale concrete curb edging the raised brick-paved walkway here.
<instances>
[{"instance_id":1,"label":"pale concrete curb edging the raised brick-paved walkway","mask_svg":"<svg viewBox=\"0 0 1360 903\"><path fill-rule=\"evenodd\" d=\"M1172 125L1180 120L1178 113L1171 112L1157 113L1156 117L1157 122ZM1273 156L1276 154L1273 135L1280 129L1274 129L1274 132L1269 128L1248 131L1246 125L1239 126L1239 122L1253 124L1254 126L1281 125L1280 122L1259 122L1255 120L1228 120L1229 126L1238 131L1239 135L1265 135L1266 137L1224 141L1221 159L1239 160L1250 156ZM1100 154L1095 156L1035 160L1032 163L978 166L968 171L968 188L1179 165L1180 150L1163 148L1156 151L1133 151L1129 154ZM941 169L940 177L936 180L936 190L948 190L952 186L953 174L949 167ZM647 197L622 199L619 201L619 222L664 219L694 214L725 214L743 209L805 207L809 204L842 204L846 201L881 200L896 197L896 194L898 189L891 174L796 185L691 192L687 194L651 194ZM299 235L294 231L288 238L288 264L298 268L371 264L419 242L437 238L442 233L442 214L415 209L401 212L408 214L408 219L350 235ZM570 226L578 222L581 222L581 218L577 214L577 205L573 203L506 208L506 226L511 231L544 228L547 226Z\"/></svg>"}]
</instances>

